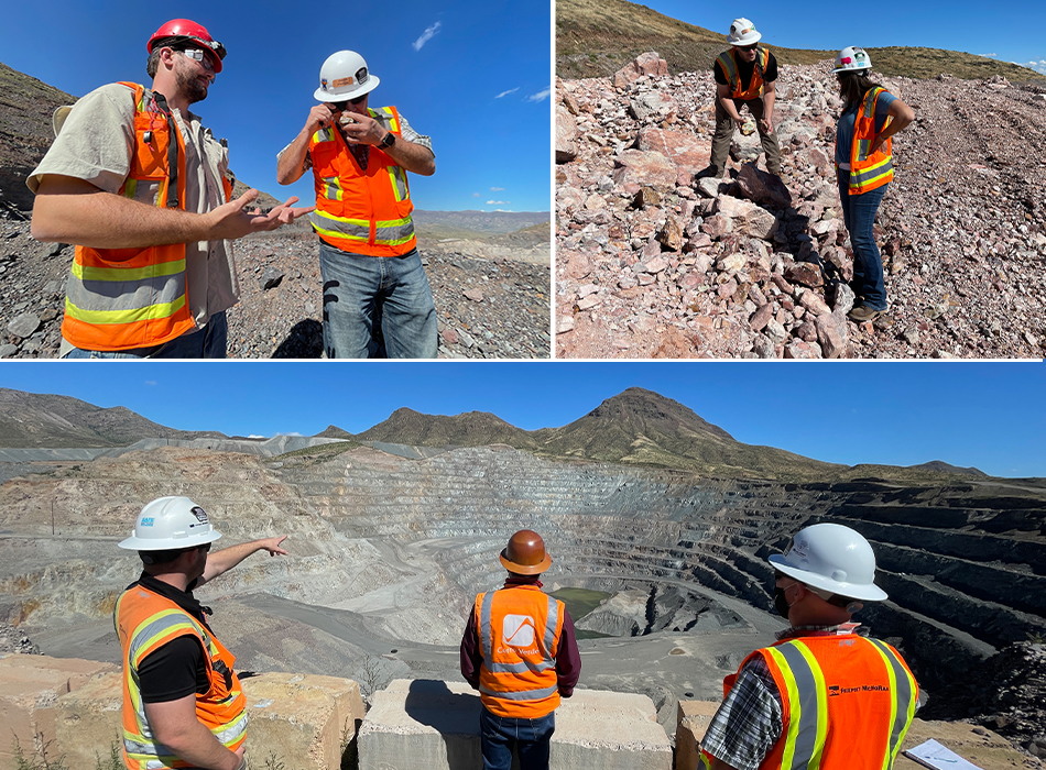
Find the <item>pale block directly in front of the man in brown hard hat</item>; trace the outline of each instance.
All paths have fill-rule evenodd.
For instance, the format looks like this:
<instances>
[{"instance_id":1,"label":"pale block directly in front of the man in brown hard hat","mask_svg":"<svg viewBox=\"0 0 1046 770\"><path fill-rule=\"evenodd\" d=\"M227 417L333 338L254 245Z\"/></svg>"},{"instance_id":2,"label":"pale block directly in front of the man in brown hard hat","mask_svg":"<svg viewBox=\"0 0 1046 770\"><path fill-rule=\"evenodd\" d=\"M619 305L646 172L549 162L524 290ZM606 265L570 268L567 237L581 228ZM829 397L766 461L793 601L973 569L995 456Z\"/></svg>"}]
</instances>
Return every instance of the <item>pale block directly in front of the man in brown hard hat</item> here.
<instances>
[{"instance_id":1,"label":"pale block directly in front of the man in brown hard hat","mask_svg":"<svg viewBox=\"0 0 1046 770\"><path fill-rule=\"evenodd\" d=\"M479 695L464 682L395 680L360 727L360 770L482 766ZM551 766L669 770L672 745L645 695L578 690L556 712Z\"/></svg>"}]
</instances>

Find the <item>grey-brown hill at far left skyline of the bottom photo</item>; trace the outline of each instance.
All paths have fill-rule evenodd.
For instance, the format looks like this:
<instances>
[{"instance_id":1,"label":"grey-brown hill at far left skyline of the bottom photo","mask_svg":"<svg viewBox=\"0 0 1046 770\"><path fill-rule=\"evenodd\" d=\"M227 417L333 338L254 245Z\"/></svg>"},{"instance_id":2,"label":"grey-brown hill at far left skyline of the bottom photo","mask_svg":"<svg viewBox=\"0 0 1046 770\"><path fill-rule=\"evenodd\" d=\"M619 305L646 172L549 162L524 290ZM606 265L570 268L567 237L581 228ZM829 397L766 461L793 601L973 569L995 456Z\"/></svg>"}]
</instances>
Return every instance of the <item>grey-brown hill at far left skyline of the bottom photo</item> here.
<instances>
[{"instance_id":1,"label":"grey-brown hill at far left skyline of the bottom photo","mask_svg":"<svg viewBox=\"0 0 1046 770\"><path fill-rule=\"evenodd\" d=\"M0 388L0 447L128 447L141 439L204 439L217 431L174 430L122 406L103 409L78 398Z\"/></svg>"}]
</instances>

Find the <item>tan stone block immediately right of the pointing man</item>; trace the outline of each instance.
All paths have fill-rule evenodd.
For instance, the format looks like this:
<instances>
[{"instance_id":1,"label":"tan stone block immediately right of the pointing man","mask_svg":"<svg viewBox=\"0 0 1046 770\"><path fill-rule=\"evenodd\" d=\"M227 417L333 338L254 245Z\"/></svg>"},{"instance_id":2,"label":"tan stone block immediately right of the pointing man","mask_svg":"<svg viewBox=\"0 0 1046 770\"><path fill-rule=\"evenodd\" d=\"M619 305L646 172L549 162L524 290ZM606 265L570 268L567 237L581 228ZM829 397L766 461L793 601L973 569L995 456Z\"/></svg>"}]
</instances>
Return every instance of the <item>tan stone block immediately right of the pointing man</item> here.
<instances>
[{"instance_id":1,"label":"tan stone block immediately right of the pointing man","mask_svg":"<svg viewBox=\"0 0 1046 770\"><path fill-rule=\"evenodd\" d=\"M363 718L360 686L348 679L264 673L242 680L247 695L247 756L284 770L338 770L342 746Z\"/></svg>"}]
</instances>

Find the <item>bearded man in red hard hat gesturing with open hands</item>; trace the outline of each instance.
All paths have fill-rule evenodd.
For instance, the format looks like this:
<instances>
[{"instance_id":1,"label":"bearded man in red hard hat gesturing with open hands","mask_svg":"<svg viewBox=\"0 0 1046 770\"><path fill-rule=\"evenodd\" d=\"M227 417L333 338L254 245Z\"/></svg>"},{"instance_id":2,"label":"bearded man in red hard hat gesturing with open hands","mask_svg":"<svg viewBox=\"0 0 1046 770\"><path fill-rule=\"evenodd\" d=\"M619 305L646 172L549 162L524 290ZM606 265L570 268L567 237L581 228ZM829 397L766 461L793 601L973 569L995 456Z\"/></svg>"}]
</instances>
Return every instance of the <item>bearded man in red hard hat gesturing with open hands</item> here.
<instances>
[{"instance_id":1,"label":"bearded man in red hard hat gesturing with open hands","mask_svg":"<svg viewBox=\"0 0 1046 770\"><path fill-rule=\"evenodd\" d=\"M117 82L55 113L55 141L28 177L33 237L76 244L63 358L225 358L239 299L233 239L312 209L292 198L248 211L232 200L229 155L189 105L226 56L200 24L174 19L146 43L151 87Z\"/></svg>"}]
</instances>

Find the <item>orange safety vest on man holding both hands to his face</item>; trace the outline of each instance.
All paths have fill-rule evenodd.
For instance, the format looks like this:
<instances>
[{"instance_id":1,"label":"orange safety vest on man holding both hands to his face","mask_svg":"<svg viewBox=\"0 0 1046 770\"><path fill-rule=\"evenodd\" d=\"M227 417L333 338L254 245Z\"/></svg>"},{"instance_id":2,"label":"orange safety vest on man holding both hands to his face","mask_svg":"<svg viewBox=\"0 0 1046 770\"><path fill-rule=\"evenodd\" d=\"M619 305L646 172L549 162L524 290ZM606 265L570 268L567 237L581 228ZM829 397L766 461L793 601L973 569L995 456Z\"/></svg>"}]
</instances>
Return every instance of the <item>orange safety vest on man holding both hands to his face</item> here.
<instances>
[{"instance_id":1,"label":"orange safety vest on man holding both hands to his face","mask_svg":"<svg viewBox=\"0 0 1046 770\"><path fill-rule=\"evenodd\" d=\"M368 110L396 136L400 114L394 107ZM342 251L369 256L401 256L417 248L406 169L378 147L370 147L362 169L338 127L309 138L316 210L310 216L319 237Z\"/></svg>"}]
</instances>

